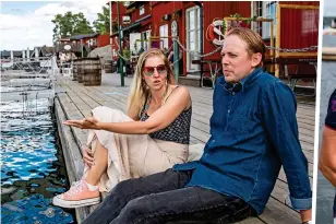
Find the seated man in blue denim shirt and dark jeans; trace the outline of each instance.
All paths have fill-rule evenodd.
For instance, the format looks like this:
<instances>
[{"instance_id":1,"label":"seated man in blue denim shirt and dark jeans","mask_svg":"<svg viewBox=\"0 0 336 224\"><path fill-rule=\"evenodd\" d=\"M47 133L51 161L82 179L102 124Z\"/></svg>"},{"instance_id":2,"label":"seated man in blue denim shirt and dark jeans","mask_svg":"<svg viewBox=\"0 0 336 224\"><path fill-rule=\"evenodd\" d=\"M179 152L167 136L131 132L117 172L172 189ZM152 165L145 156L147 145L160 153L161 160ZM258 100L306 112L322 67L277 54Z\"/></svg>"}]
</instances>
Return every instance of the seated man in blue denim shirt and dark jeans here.
<instances>
[{"instance_id":1,"label":"seated man in blue denim shirt and dark jeans","mask_svg":"<svg viewBox=\"0 0 336 224\"><path fill-rule=\"evenodd\" d=\"M263 212L281 165L292 207L311 220L308 162L298 139L296 97L263 72L265 46L256 33L226 36L200 161L117 185L84 223L233 223ZM276 212L276 211L275 211Z\"/></svg>"}]
</instances>

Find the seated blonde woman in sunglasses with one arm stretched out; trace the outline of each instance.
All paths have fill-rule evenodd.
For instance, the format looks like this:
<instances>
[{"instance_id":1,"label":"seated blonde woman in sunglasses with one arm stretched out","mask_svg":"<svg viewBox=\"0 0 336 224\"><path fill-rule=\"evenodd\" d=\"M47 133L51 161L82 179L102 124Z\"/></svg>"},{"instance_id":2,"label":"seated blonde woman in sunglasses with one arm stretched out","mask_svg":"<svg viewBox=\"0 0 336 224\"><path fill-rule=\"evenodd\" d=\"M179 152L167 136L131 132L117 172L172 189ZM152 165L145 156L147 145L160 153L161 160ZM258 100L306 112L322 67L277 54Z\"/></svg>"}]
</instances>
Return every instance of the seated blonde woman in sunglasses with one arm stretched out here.
<instances>
[{"instance_id":1,"label":"seated blonde woman in sunglasses with one arm stretched out","mask_svg":"<svg viewBox=\"0 0 336 224\"><path fill-rule=\"evenodd\" d=\"M99 203L99 191L118 182L164 172L188 158L191 98L175 85L169 61L161 50L143 52L129 96L128 116L108 107L93 117L64 125L91 129L89 149L83 153L83 178L52 199L55 205L77 208Z\"/></svg>"}]
</instances>

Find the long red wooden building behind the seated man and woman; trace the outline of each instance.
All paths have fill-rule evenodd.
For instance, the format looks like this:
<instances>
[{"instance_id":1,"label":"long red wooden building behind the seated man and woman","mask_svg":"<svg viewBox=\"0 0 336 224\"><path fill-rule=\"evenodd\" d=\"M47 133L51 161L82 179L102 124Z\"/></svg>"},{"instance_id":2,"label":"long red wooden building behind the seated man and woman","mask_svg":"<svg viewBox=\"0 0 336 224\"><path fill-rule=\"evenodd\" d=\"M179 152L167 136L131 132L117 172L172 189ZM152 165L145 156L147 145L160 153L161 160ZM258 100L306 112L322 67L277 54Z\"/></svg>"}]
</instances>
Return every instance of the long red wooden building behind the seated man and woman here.
<instances>
[{"instance_id":1,"label":"long red wooden building behind the seated man and woman","mask_svg":"<svg viewBox=\"0 0 336 224\"><path fill-rule=\"evenodd\" d=\"M262 16L273 19L273 40L274 45L278 44L277 47L279 48L293 49L316 46L319 39L319 9L315 8L319 4L319 1L199 1L199 3L184 1L135 1L125 7L120 2L119 7L124 45L129 44L131 35L139 34L143 40L142 46L146 49L149 47L147 43L151 36L172 36L173 30L175 32L177 31L177 36L183 47L208 54L218 47L207 37L208 26L216 20L223 20L233 14L239 14L241 17ZM201 24L202 11L203 23ZM276 17L277 13L280 13L279 20ZM122 24L122 16L130 16L130 24ZM112 2L111 17L112 23L117 23L116 2ZM172 27L173 21L177 23L177 28L176 26ZM216 27L223 30L223 25L220 25ZM271 45L271 23L252 22L251 24L245 23L245 26L257 31L266 45ZM116 34L112 37L116 39ZM216 36L216 38L220 39L223 37ZM280 42L277 43L277 39ZM171 45L171 38L161 38L156 43L154 39L152 43L152 47L165 47L168 49ZM128 47L133 49L133 46ZM112 48L115 50L118 49L116 45ZM316 57L316 49L310 50L307 54L280 52L277 56ZM204 59L219 58L219 52L216 52ZM199 57L183 51L183 70L180 71L181 75L192 76L194 74L200 76L200 66L192 63L194 59L199 59ZM206 67L205 70L207 70Z\"/></svg>"}]
</instances>

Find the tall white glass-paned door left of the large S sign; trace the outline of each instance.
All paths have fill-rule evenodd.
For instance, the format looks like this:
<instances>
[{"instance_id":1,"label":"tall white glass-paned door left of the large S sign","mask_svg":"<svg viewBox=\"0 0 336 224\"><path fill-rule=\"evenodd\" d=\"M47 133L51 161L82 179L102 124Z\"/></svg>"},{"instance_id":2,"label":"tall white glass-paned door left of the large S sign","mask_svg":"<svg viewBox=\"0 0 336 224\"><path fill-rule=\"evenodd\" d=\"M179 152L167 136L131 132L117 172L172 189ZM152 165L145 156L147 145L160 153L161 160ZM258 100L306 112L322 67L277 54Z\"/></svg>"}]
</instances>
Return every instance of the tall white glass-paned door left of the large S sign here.
<instances>
[{"instance_id":1,"label":"tall white glass-paned door left of the large S sign","mask_svg":"<svg viewBox=\"0 0 336 224\"><path fill-rule=\"evenodd\" d=\"M187 10L187 48L200 52L201 49L201 31L200 31L200 8L193 7ZM200 71L199 64L193 64L192 60L197 60L200 57L193 54L187 54L187 70Z\"/></svg>"}]
</instances>

